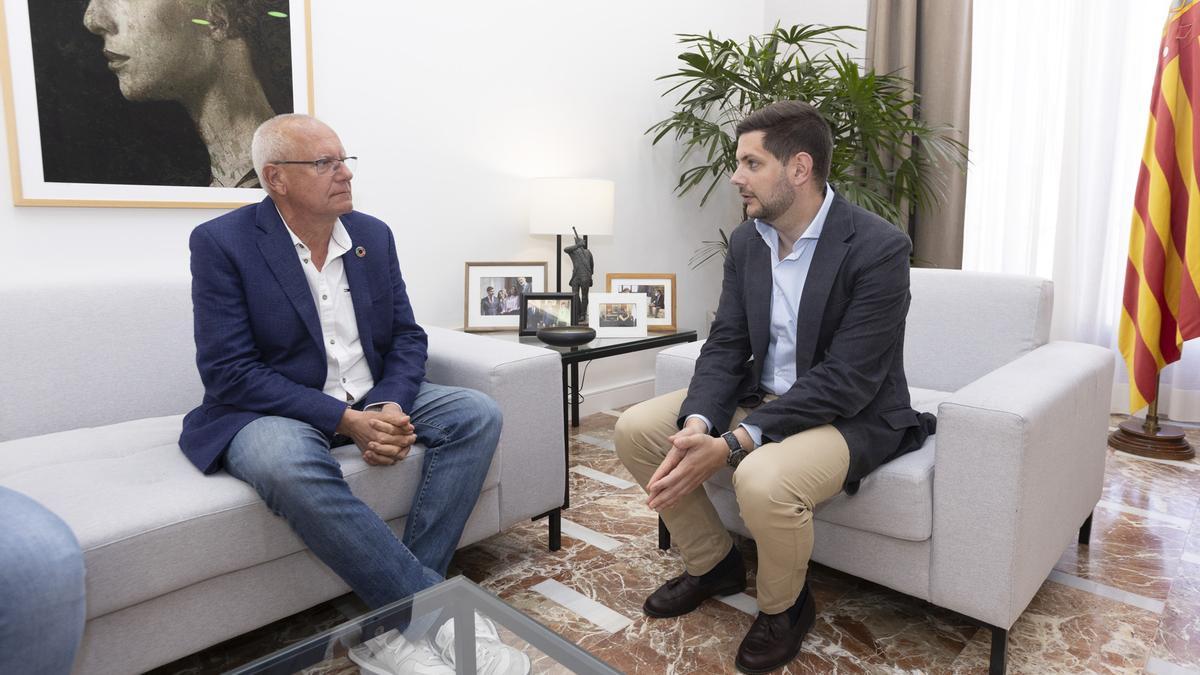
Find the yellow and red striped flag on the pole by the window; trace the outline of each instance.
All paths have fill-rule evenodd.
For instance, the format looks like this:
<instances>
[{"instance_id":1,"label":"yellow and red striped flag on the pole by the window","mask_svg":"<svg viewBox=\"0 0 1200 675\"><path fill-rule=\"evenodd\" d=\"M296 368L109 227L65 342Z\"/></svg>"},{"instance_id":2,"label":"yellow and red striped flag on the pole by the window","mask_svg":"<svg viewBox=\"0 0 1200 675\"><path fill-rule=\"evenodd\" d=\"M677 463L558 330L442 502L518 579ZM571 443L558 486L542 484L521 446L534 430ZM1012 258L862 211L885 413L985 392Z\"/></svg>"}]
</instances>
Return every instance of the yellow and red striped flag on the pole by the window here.
<instances>
[{"instance_id":1,"label":"yellow and red striped flag on the pole by the window","mask_svg":"<svg viewBox=\"0 0 1200 675\"><path fill-rule=\"evenodd\" d=\"M1134 196L1118 345L1129 408L1158 395L1158 372L1200 338L1200 0L1176 0L1163 30Z\"/></svg>"}]
</instances>

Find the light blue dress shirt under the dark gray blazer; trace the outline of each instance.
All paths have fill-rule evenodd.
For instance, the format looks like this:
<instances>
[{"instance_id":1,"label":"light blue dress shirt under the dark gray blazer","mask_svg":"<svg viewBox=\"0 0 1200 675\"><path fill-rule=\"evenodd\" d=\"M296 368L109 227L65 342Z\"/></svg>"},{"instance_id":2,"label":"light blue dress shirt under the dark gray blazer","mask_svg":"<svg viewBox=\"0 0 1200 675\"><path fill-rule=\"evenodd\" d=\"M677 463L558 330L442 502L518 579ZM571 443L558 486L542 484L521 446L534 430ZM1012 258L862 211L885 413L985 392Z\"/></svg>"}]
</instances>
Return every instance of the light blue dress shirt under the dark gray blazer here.
<instances>
[{"instance_id":1,"label":"light blue dress shirt under the dark gray blazer","mask_svg":"<svg viewBox=\"0 0 1200 675\"><path fill-rule=\"evenodd\" d=\"M826 197L812 217L812 222L804 229L804 234L796 240L792 251L779 259L779 232L766 221L755 219L754 226L762 235L762 240L770 249L770 342L767 346L767 357L762 363L762 388L768 393L782 395L796 383L796 322L800 307L800 295L804 294L804 282L809 277L809 269L812 267L812 253L817 247L817 239L824 231L826 216L829 215L829 205L833 204L833 187L826 184ZM708 425L709 431L713 423L702 414L690 414L698 417ZM742 424L743 429L754 440L754 447L762 444L762 429L752 424Z\"/></svg>"}]
</instances>

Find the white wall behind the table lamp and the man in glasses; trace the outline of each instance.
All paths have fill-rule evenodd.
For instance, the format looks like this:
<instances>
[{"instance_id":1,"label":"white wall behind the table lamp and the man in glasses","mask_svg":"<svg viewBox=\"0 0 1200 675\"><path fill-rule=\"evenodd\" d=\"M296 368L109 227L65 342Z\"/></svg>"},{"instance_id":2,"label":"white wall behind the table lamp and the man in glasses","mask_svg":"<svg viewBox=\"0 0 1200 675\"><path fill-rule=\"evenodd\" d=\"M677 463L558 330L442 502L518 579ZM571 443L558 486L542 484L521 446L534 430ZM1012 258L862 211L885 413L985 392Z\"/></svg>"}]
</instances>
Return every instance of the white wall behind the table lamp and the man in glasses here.
<instances>
[{"instance_id":1,"label":"white wall behind the table lamp and the man in glasses","mask_svg":"<svg viewBox=\"0 0 1200 675\"><path fill-rule=\"evenodd\" d=\"M749 35L761 4L343 0L312 14L317 114L361 156L355 207L395 229L420 321L462 324L464 261L553 274L553 239L527 232L527 178L564 175L617 184L614 234L592 239L594 289L608 271L674 271L679 325L707 325L720 265L688 258L739 210L732 191L704 209L676 197L678 150L643 131L668 114L654 78L676 68L674 34ZM7 163L0 190L4 283L186 279L190 231L222 213L16 208ZM644 392L652 376L649 354L596 362L586 392Z\"/></svg>"}]
</instances>

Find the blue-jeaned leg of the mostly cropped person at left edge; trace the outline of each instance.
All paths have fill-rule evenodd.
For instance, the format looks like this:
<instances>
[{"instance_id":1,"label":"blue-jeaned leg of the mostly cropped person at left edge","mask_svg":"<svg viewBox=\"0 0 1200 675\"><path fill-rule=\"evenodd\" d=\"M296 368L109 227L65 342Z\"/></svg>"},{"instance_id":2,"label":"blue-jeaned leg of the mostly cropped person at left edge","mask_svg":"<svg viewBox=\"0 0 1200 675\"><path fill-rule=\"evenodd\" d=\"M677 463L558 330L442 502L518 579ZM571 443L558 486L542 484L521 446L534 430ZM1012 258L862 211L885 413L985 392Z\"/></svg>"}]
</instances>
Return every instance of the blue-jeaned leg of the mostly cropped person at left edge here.
<instances>
[{"instance_id":1,"label":"blue-jeaned leg of the mostly cropped person at left edge","mask_svg":"<svg viewBox=\"0 0 1200 675\"><path fill-rule=\"evenodd\" d=\"M83 638L83 552L40 503L0 488L0 673L70 673Z\"/></svg>"}]
</instances>

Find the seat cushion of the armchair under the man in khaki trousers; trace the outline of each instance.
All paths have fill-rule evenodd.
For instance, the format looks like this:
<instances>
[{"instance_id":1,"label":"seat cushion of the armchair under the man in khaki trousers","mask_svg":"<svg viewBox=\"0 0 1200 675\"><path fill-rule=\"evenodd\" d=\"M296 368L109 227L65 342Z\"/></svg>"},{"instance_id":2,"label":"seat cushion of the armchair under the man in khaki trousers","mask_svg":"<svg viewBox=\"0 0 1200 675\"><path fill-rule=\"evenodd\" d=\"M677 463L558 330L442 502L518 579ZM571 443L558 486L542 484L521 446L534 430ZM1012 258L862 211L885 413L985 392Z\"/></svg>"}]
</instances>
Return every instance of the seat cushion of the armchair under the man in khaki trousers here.
<instances>
[{"instance_id":1,"label":"seat cushion of the armchair under the man in khaki trousers","mask_svg":"<svg viewBox=\"0 0 1200 675\"><path fill-rule=\"evenodd\" d=\"M912 407L937 412L948 392L911 388ZM934 456L937 436L920 449L899 456L872 471L853 496L845 492L818 506L817 520L865 530L876 534L924 542L934 532ZM709 483L733 490L733 472L719 471Z\"/></svg>"}]
</instances>

